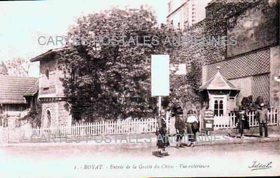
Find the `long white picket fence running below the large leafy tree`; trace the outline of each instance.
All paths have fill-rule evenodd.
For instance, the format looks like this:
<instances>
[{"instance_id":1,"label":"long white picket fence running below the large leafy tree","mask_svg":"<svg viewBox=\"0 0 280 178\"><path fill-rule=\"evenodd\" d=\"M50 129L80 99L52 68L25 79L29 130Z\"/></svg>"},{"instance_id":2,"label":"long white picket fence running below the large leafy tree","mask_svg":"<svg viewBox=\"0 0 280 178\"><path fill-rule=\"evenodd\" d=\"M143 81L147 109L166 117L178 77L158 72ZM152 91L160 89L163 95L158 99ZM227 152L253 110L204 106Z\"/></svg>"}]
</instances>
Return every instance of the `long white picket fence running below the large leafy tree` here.
<instances>
[{"instance_id":1,"label":"long white picket fence running below the large leafy tree","mask_svg":"<svg viewBox=\"0 0 280 178\"><path fill-rule=\"evenodd\" d=\"M15 129L19 130L20 134L17 135L17 137L20 139L40 139L44 137L61 138L66 136L73 137L75 135L141 134L156 132L156 119L101 121L95 123L81 123L70 127L63 126L47 128L32 128L30 124L25 124Z\"/></svg>"}]
</instances>

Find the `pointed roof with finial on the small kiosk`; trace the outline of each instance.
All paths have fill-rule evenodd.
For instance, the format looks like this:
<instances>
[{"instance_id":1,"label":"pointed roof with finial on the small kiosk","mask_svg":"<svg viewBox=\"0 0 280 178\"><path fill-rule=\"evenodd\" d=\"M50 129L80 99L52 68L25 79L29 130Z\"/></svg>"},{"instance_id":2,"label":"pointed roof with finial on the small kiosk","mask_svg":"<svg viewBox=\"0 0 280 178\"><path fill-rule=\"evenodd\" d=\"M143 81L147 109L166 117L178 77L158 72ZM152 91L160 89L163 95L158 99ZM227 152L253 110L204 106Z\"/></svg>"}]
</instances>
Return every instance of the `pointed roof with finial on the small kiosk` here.
<instances>
[{"instance_id":1,"label":"pointed roof with finial on the small kiosk","mask_svg":"<svg viewBox=\"0 0 280 178\"><path fill-rule=\"evenodd\" d=\"M200 91L202 90L237 90L240 91L238 87L233 85L228 79L223 77L219 71L216 73L216 75L211 78L209 81L207 81L204 85L199 87Z\"/></svg>"}]
</instances>

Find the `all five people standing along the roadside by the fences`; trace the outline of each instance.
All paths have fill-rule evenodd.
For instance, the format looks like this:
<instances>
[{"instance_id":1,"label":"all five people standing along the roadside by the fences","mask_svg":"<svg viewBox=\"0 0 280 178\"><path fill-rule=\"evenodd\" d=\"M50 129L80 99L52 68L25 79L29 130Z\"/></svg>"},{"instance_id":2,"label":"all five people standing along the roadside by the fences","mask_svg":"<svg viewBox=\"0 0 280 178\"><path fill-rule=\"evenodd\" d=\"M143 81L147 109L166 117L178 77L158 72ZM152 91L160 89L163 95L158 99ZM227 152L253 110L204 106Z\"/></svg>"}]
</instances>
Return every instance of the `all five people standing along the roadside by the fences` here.
<instances>
[{"instance_id":1,"label":"all five people standing along the roadside by the fences","mask_svg":"<svg viewBox=\"0 0 280 178\"><path fill-rule=\"evenodd\" d=\"M240 107L239 109L234 109L236 115L236 135L240 133L240 138L243 138L243 134L246 133L247 130L250 129L249 118L247 113L249 110ZM256 119L259 122L260 128L260 137L263 138L263 128L264 128L264 136L268 137L268 113L267 109L265 108L265 104L260 104L260 107L257 108L256 112ZM176 108L174 111L175 115L175 129L176 129L176 147L184 147L182 140L184 134L188 136L188 144L187 146L193 147L195 144L196 133L199 131L199 121L198 117L193 113L192 110L188 110L187 117L183 116L183 109L181 107ZM160 110L160 114L157 121L157 148L158 153L161 156L167 156L168 153L165 151L167 146L170 146L169 138L166 136L169 135L166 127L166 111ZM160 139L159 139L160 137Z\"/></svg>"}]
</instances>

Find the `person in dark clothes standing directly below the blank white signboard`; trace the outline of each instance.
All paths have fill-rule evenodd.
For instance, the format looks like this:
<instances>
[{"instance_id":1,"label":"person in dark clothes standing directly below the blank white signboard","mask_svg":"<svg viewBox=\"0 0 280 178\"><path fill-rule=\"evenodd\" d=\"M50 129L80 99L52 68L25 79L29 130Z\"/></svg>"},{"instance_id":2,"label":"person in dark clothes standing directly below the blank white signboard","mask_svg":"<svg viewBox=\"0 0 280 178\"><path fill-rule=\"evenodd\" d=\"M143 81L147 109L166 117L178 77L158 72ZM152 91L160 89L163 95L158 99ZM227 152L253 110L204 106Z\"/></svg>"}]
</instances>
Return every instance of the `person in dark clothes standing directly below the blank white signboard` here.
<instances>
[{"instance_id":1,"label":"person in dark clothes standing directly below the blank white signboard","mask_svg":"<svg viewBox=\"0 0 280 178\"><path fill-rule=\"evenodd\" d=\"M156 146L157 146L159 155L167 156L168 153L165 152L165 147L170 146L170 143L169 143L169 139L166 137L166 136L168 136L166 122L165 122L166 112L165 112L165 110L160 110L159 113L160 113L160 115L159 115L159 117L157 117Z\"/></svg>"}]
</instances>

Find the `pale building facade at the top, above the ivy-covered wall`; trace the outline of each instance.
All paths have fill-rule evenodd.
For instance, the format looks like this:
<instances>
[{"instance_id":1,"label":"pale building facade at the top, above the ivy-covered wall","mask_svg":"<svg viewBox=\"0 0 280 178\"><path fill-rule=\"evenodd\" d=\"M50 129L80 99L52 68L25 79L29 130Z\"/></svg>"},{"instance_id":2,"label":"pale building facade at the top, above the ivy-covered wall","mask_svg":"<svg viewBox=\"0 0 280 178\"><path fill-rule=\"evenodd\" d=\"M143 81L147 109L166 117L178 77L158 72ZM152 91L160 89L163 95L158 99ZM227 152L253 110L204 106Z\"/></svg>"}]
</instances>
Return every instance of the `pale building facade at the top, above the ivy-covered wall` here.
<instances>
[{"instance_id":1,"label":"pale building facade at the top, above the ivy-covered wall","mask_svg":"<svg viewBox=\"0 0 280 178\"><path fill-rule=\"evenodd\" d=\"M184 29L205 18L205 7L210 0L171 0L168 3L167 23Z\"/></svg>"}]
</instances>

